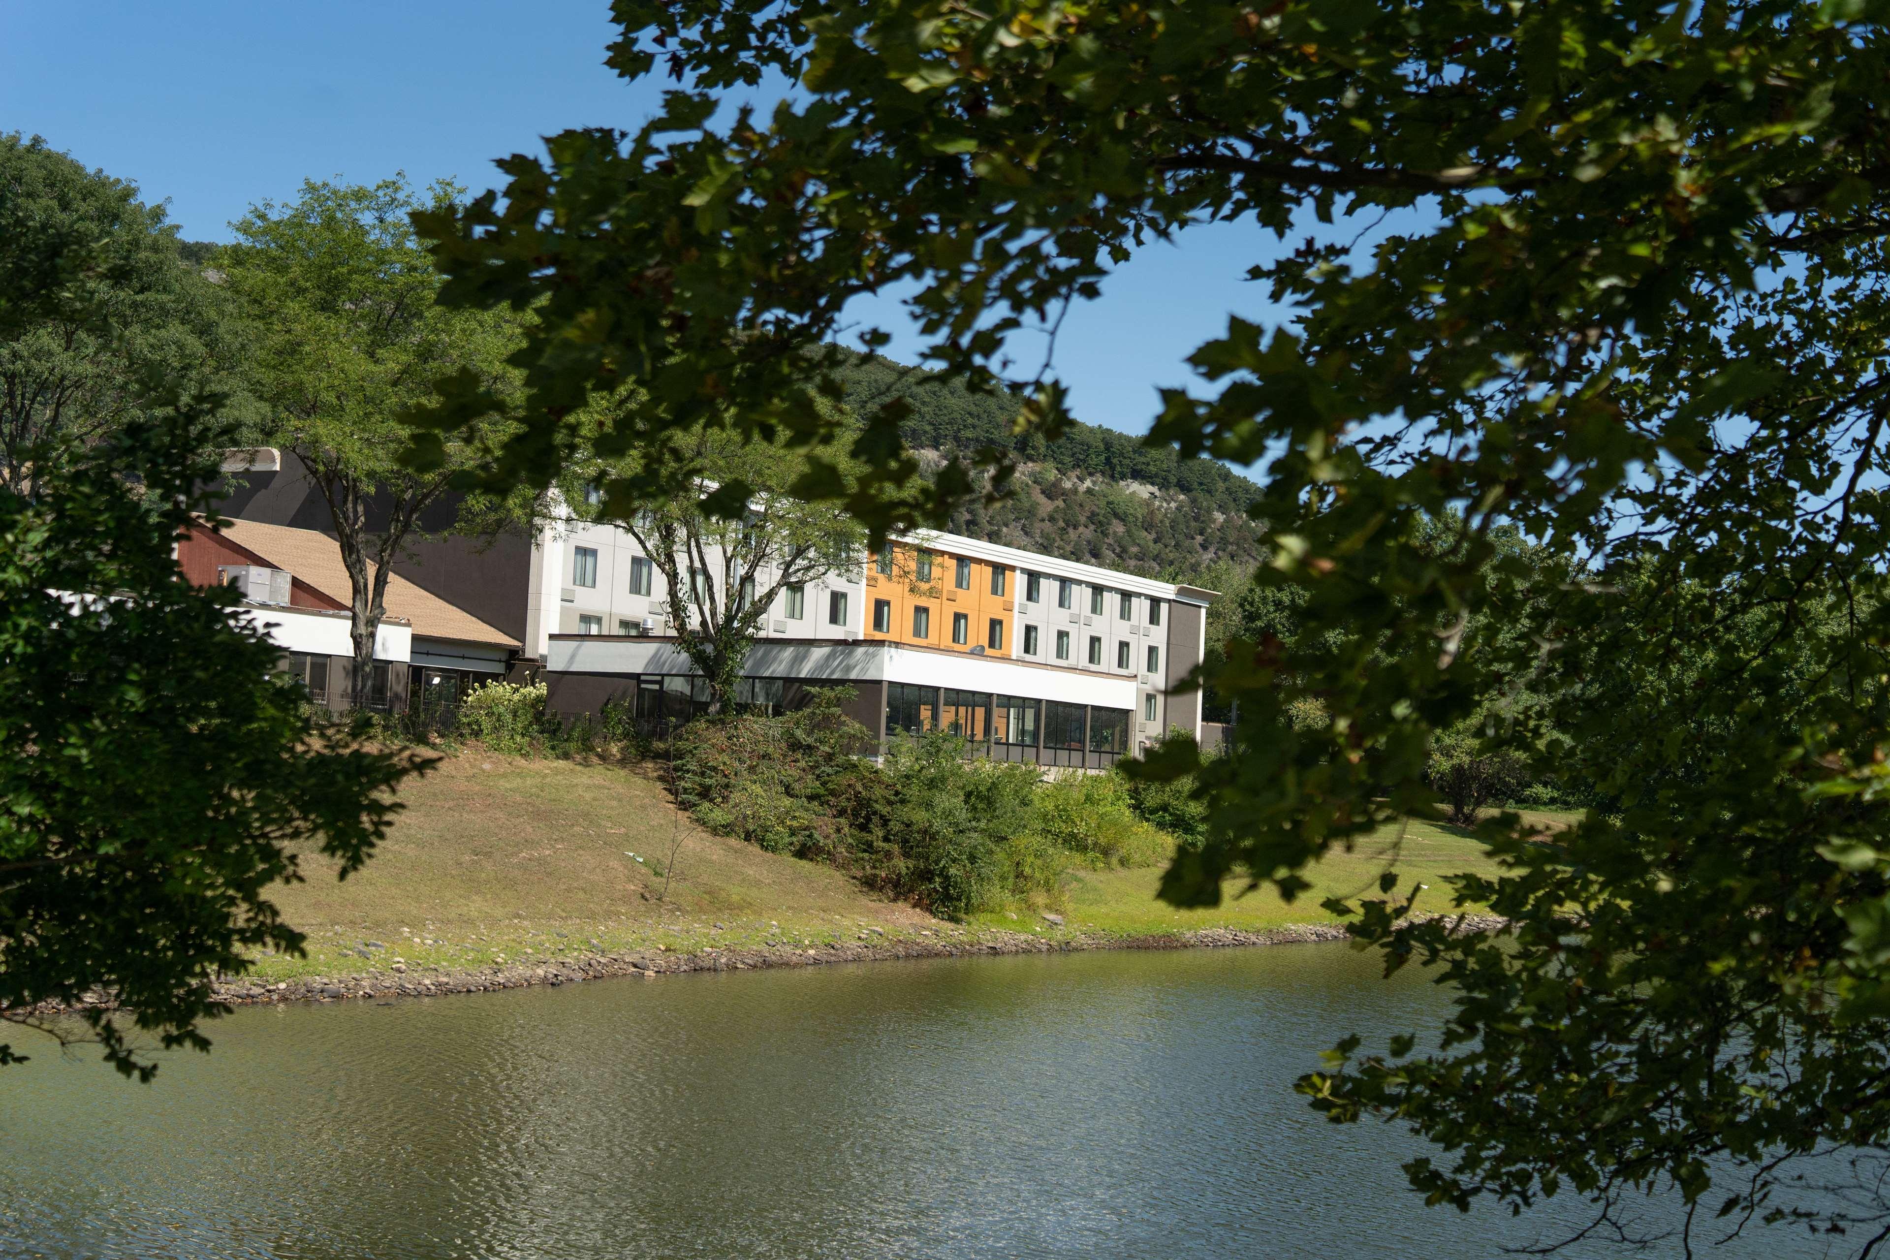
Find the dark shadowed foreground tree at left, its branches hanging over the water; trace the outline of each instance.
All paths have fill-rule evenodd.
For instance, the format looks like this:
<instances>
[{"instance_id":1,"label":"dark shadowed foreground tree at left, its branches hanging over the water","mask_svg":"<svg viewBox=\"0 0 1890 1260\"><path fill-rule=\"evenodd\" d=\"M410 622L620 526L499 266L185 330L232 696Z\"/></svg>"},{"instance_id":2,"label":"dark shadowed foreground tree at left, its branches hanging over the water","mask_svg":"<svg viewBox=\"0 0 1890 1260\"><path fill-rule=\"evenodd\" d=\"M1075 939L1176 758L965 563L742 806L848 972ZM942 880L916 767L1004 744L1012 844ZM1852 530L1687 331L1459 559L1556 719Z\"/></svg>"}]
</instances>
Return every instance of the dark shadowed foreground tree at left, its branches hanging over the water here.
<instances>
[{"instance_id":1,"label":"dark shadowed foreground tree at left, its branches hanging over the water","mask_svg":"<svg viewBox=\"0 0 1890 1260\"><path fill-rule=\"evenodd\" d=\"M110 310L117 244L81 225L0 253L0 344ZM412 769L312 731L280 652L180 578L217 402L142 395L121 425L25 448L32 493L0 487L0 1020L66 1039L77 1007L142 1079L138 1033L206 1048L212 982L301 948L268 888L302 852L359 867Z\"/></svg>"}]
</instances>

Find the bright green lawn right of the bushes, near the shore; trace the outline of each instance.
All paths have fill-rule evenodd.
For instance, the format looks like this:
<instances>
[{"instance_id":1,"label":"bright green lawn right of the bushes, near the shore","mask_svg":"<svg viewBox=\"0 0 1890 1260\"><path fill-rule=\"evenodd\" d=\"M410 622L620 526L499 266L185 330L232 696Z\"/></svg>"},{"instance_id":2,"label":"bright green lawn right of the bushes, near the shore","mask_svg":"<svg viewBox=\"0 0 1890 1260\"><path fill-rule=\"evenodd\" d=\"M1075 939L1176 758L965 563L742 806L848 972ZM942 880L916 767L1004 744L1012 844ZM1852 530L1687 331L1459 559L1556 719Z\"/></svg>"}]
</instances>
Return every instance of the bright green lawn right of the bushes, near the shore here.
<instances>
[{"instance_id":1,"label":"bright green lawn right of the bushes, near the shore","mask_svg":"<svg viewBox=\"0 0 1890 1260\"><path fill-rule=\"evenodd\" d=\"M1554 810L1525 810L1523 818L1542 826L1561 826L1580 814ZM1068 928L1077 931L1104 933L1170 933L1194 931L1200 928L1244 928L1259 931L1283 928L1287 924L1329 924L1336 916L1319 903L1327 897L1376 895L1378 877L1385 871L1399 873L1399 892L1412 882L1429 884L1418 897L1419 911L1450 911L1452 890L1444 875L1457 871L1495 873L1495 863L1484 856L1484 848L1453 827L1429 822L1406 822L1397 827L1383 827L1378 833L1357 841L1351 852L1332 850L1315 863L1306 877L1314 888L1300 894L1293 903L1281 901L1274 888L1246 892L1246 880L1228 880L1223 886L1221 905L1196 911L1177 911L1155 899L1160 886L1162 867L1140 867L1130 871L1072 871L1068 907L1064 916ZM1036 916L1032 916L1036 918ZM981 926L1017 926L1007 914L981 916Z\"/></svg>"}]
</instances>

